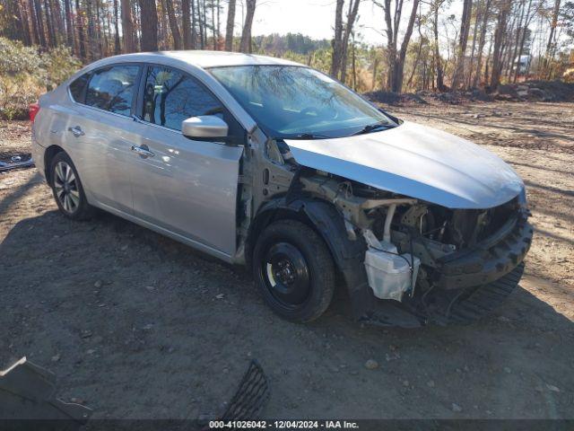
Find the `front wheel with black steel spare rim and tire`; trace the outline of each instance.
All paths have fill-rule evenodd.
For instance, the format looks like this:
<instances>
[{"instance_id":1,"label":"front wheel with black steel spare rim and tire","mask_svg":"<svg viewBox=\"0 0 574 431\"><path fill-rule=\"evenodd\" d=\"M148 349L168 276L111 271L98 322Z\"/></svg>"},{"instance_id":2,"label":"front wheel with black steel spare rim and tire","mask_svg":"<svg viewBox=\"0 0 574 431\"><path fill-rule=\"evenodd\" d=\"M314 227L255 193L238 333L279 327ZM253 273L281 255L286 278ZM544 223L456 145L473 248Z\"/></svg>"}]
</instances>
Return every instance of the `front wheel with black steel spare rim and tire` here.
<instances>
[{"instance_id":1,"label":"front wheel with black steel spare rim and tire","mask_svg":"<svg viewBox=\"0 0 574 431\"><path fill-rule=\"evenodd\" d=\"M295 220L270 224L259 235L253 273L265 303L288 321L314 321L335 291L335 264L323 239Z\"/></svg>"}]
</instances>

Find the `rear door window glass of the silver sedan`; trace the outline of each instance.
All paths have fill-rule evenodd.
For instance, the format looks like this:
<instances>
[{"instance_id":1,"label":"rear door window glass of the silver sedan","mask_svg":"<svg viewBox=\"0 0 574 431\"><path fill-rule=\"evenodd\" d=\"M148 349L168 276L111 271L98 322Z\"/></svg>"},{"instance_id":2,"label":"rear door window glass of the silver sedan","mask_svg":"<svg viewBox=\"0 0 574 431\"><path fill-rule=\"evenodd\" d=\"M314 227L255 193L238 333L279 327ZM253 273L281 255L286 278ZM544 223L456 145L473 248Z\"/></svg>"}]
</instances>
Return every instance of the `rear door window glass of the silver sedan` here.
<instances>
[{"instance_id":1,"label":"rear door window glass of the silver sedan","mask_svg":"<svg viewBox=\"0 0 574 431\"><path fill-rule=\"evenodd\" d=\"M139 66L110 66L91 75L86 105L128 116L132 109Z\"/></svg>"}]
</instances>

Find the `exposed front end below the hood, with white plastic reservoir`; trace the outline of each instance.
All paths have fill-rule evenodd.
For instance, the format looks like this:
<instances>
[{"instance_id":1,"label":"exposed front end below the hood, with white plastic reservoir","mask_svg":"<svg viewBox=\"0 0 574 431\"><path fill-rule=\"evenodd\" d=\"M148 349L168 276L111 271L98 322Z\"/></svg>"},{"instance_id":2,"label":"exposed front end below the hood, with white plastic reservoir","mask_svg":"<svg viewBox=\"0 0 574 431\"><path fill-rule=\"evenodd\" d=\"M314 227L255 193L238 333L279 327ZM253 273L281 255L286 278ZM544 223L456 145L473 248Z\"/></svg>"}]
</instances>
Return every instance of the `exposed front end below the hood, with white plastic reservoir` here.
<instances>
[{"instance_id":1,"label":"exposed front end below the hood, with white plastic reservoir","mask_svg":"<svg viewBox=\"0 0 574 431\"><path fill-rule=\"evenodd\" d=\"M503 299L517 285L532 239L524 196L486 209L451 209L300 166L288 145L271 146L276 151L268 153L270 158L293 172L288 200L331 203L344 220L348 241L363 244L364 254L354 270L366 274L371 296L393 300L381 303L420 321L444 322L452 321L455 304L466 300L458 319L465 322L493 308L468 302L479 290L483 296ZM495 292L488 292L490 288ZM394 312L377 317L375 308L370 307L364 319L381 324L394 319L388 317Z\"/></svg>"}]
</instances>

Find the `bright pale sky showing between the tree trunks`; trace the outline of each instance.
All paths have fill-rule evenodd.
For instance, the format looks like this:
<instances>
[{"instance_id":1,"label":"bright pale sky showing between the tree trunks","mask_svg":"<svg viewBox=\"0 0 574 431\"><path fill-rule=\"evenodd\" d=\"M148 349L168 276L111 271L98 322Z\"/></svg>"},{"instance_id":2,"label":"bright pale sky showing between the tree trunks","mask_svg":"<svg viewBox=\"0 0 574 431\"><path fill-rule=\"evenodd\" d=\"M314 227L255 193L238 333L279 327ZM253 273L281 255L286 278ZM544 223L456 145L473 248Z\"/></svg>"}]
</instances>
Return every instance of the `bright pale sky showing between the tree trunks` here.
<instances>
[{"instance_id":1,"label":"bright pale sky showing between the tree trunks","mask_svg":"<svg viewBox=\"0 0 574 431\"><path fill-rule=\"evenodd\" d=\"M345 1L344 15L349 0ZM462 2L453 2L450 10L444 11L460 14ZM242 20L242 4L238 0L236 12L236 34L240 33ZM335 0L258 0L253 22L252 34L254 36L272 33L287 34L302 33L312 39L333 38L335 24ZM405 1L403 6L403 26L411 12L412 2ZM362 0L359 7L359 32L362 40L369 44L383 44L385 22L382 10L371 0Z\"/></svg>"}]
</instances>

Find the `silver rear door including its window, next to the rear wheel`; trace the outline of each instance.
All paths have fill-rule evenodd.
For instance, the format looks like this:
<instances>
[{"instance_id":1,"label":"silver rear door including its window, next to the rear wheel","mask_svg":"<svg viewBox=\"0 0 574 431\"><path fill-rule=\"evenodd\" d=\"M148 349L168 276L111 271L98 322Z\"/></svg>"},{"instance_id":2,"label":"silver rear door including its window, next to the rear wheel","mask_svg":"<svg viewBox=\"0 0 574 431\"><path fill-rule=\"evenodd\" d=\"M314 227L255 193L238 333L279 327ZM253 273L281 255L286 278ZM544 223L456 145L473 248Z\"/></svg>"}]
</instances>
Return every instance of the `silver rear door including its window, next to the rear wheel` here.
<instances>
[{"instance_id":1,"label":"silver rear door including its window, next to the rear wheel","mask_svg":"<svg viewBox=\"0 0 574 431\"><path fill-rule=\"evenodd\" d=\"M132 213L127 165L132 161L132 110L142 66L105 66L91 72L65 126L66 149L92 204ZM74 92L74 84L70 91Z\"/></svg>"}]
</instances>

